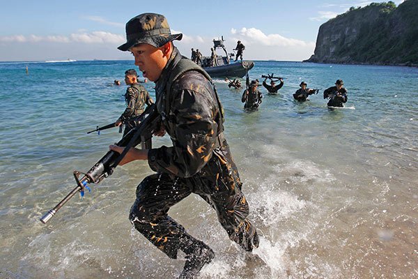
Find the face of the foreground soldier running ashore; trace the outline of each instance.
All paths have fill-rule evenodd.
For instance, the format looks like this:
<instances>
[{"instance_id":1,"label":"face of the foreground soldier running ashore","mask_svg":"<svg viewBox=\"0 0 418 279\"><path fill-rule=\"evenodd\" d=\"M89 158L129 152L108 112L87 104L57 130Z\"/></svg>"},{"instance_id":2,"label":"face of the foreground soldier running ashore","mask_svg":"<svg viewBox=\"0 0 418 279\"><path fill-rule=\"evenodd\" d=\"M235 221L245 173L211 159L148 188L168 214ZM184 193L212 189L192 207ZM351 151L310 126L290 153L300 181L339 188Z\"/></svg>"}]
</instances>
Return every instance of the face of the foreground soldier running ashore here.
<instances>
[{"instance_id":1,"label":"face of the foreground soldier running ashore","mask_svg":"<svg viewBox=\"0 0 418 279\"><path fill-rule=\"evenodd\" d=\"M153 47L148 44L139 44L130 48L130 52L135 57L135 65L142 72L142 76L148 80L155 82L160 77L162 70L169 61L170 45L167 43L162 47Z\"/></svg>"}]
</instances>

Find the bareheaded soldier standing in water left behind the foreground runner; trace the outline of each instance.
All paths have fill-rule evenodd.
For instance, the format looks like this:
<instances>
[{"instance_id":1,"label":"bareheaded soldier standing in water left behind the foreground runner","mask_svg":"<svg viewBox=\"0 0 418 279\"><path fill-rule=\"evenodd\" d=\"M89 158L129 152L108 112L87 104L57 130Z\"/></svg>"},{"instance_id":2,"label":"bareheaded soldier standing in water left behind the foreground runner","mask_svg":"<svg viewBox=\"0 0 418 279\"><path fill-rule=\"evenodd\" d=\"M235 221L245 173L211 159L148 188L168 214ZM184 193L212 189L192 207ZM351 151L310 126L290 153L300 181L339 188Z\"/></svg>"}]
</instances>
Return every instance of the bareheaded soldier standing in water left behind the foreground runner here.
<instances>
[{"instance_id":1,"label":"bareheaded soldier standing in water left behind the foreground runner","mask_svg":"<svg viewBox=\"0 0 418 279\"><path fill-rule=\"evenodd\" d=\"M138 83L138 74L136 70L130 69L125 71L125 83L126 85L129 85L125 93L126 109L115 123L115 126L125 125L123 135L126 135L137 125L137 123L132 120L132 117L138 116L144 112L145 104L151 105L154 103L145 87Z\"/></svg>"}]
</instances>

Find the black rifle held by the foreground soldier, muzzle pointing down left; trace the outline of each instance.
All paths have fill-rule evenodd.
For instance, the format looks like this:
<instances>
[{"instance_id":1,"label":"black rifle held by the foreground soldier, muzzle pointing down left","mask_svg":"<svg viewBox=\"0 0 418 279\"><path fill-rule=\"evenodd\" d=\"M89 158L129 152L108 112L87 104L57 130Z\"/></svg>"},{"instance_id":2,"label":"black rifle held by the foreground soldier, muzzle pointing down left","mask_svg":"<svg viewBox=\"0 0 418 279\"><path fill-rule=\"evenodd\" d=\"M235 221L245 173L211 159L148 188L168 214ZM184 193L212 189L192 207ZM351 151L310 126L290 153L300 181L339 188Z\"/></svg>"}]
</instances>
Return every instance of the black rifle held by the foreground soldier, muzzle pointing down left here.
<instances>
[{"instance_id":1,"label":"black rifle held by the foreground soldier, muzzle pointing down left","mask_svg":"<svg viewBox=\"0 0 418 279\"><path fill-rule=\"evenodd\" d=\"M59 204L56 204L54 209L49 210L42 218L40 222L47 223L51 219L56 211L59 211L61 207L68 202L77 192L80 192L84 196L84 188L90 191L88 188L88 183L100 183L104 178L110 176L115 167L121 162L125 154L132 146L137 146L141 142L146 142L153 137L153 131L159 128L159 121L157 121L159 114L155 104L149 105L146 110L138 116L137 120L140 121L139 125L130 130L129 133L125 135L116 145L125 146L125 149L121 154L116 151L107 151L98 163L95 163L93 167L86 173L74 171L74 178L77 182L77 186L72 189L72 191L65 196ZM80 174L84 174L81 179L79 179Z\"/></svg>"}]
</instances>

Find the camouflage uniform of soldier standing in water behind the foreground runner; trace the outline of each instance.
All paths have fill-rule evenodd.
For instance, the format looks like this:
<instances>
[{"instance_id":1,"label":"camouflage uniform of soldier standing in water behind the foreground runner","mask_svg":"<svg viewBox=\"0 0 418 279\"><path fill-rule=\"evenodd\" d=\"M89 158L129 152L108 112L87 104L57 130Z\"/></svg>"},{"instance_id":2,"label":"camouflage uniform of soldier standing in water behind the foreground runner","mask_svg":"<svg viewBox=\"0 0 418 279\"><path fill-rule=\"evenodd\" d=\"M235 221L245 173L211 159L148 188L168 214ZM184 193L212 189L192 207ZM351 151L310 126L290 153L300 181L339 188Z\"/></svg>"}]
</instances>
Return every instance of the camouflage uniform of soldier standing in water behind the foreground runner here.
<instances>
[{"instance_id":1,"label":"camouflage uniform of soldier standing in water behind the foreground runner","mask_svg":"<svg viewBox=\"0 0 418 279\"><path fill-rule=\"evenodd\" d=\"M154 103L145 87L138 83L130 84L130 86L126 89L125 102L126 109L118 119L125 125L123 135L126 135L137 125L137 123L129 119L132 119L132 117L138 116L144 112L145 104L151 105Z\"/></svg>"}]
</instances>

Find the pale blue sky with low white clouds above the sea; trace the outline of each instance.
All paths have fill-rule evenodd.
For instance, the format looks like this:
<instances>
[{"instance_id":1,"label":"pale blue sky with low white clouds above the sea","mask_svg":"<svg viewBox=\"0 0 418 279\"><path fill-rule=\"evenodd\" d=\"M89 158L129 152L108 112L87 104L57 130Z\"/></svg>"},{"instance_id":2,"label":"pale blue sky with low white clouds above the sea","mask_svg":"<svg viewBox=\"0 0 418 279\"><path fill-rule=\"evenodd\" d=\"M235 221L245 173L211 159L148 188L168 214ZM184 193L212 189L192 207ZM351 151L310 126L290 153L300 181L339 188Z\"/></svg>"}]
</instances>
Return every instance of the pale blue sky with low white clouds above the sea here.
<instances>
[{"instance_id":1,"label":"pale blue sky with low white clouds above the sea","mask_svg":"<svg viewBox=\"0 0 418 279\"><path fill-rule=\"evenodd\" d=\"M132 59L116 47L125 42L125 23L147 12L165 15L173 33L183 33L175 45L186 56L191 47L209 55L212 39L224 36L230 52L237 40L245 44L245 59L301 61L314 53L320 24L369 3L1 0L0 61Z\"/></svg>"}]
</instances>

